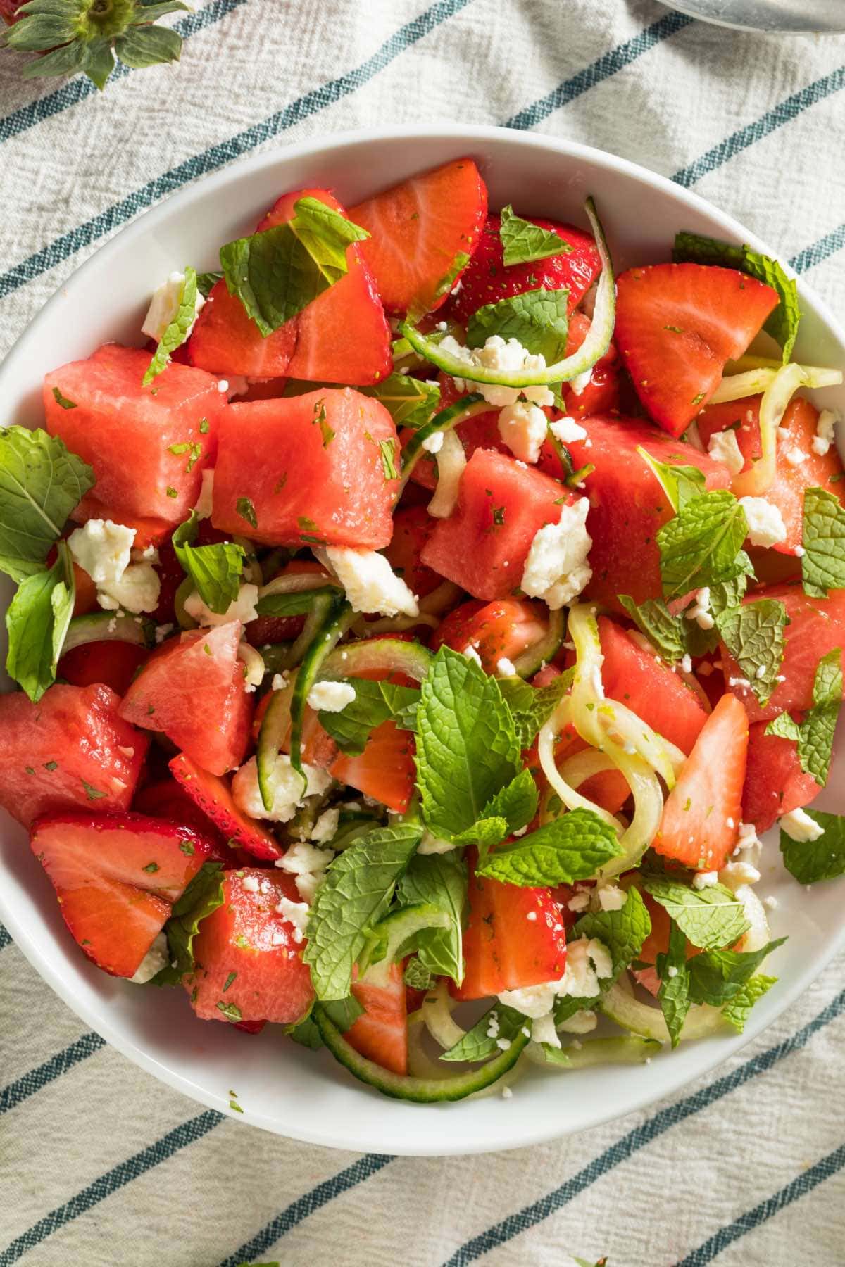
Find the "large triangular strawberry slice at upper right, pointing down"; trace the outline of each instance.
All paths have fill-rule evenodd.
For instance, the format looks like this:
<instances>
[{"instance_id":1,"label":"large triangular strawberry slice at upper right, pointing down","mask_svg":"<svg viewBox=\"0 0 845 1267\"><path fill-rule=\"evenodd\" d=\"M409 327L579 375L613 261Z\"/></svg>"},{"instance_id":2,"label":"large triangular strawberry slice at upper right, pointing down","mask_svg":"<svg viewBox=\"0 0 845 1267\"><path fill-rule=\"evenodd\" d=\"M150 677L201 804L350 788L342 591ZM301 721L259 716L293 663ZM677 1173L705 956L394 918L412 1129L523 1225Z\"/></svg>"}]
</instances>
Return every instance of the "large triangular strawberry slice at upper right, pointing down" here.
<instances>
[{"instance_id":1,"label":"large triangular strawberry slice at upper right, pointing down","mask_svg":"<svg viewBox=\"0 0 845 1267\"><path fill-rule=\"evenodd\" d=\"M651 417L680 436L778 295L736 269L654 264L617 279L616 346Z\"/></svg>"}]
</instances>

